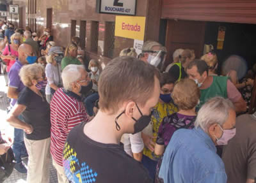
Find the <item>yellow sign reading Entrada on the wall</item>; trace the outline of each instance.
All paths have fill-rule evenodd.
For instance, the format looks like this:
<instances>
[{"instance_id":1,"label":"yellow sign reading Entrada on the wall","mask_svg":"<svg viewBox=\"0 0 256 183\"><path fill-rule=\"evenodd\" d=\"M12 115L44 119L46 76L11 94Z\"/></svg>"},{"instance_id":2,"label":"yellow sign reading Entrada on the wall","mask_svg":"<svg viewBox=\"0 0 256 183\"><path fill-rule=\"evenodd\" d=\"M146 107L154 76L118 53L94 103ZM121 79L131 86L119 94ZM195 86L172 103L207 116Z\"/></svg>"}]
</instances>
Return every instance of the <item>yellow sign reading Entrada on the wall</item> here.
<instances>
[{"instance_id":1,"label":"yellow sign reading Entrada on the wall","mask_svg":"<svg viewBox=\"0 0 256 183\"><path fill-rule=\"evenodd\" d=\"M144 40L146 17L116 16L115 36Z\"/></svg>"}]
</instances>

